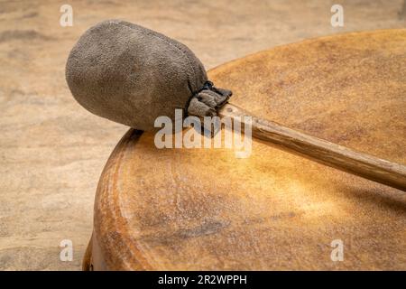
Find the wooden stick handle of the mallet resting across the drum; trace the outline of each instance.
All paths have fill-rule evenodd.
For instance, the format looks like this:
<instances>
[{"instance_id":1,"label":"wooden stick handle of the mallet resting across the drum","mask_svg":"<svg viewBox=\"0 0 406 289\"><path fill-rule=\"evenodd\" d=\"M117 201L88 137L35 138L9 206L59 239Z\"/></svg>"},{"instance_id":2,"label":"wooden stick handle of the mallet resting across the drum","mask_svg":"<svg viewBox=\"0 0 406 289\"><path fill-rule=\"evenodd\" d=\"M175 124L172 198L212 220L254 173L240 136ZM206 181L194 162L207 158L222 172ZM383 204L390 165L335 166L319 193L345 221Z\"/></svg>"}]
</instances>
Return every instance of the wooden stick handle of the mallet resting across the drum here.
<instances>
[{"instance_id":1,"label":"wooden stick handle of the mallet resting across the drum","mask_svg":"<svg viewBox=\"0 0 406 289\"><path fill-rule=\"evenodd\" d=\"M241 119L252 117L252 134L267 144L299 154L317 163L353 173L365 179L380 182L401 191L406 191L406 166L392 163L369 154L355 152L345 146L333 144L269 120L254 117L240 107L227 103L218 111L219 117ZM238 118L239 117L239 118ZM244 128L244 127L243 127Z\"/></svg>"}]
</instances>

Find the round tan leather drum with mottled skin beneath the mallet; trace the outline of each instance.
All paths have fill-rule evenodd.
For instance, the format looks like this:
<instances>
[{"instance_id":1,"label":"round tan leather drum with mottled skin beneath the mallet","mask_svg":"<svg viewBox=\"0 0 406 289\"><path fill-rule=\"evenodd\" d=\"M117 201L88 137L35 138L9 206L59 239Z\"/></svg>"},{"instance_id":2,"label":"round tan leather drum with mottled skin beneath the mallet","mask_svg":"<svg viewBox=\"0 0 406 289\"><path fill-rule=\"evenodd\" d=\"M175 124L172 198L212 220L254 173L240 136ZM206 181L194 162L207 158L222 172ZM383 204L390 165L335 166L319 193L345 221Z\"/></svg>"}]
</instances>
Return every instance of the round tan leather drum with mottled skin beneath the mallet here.
<instances>
[{"instance_id":1,"label":"round tan leather drum with mottled skin beneath the mallet","mask_svg":"<svg viewBox=\"0 0 406 289\"><path fill-rule=\"evenodd\" d=\"M406 30L276 47L209 78L259 117L406 163ZM91 243L85 269L404 270L406 197L256 141L238 159L130 130L98 184Z\"/></svg>"}]
</instances>

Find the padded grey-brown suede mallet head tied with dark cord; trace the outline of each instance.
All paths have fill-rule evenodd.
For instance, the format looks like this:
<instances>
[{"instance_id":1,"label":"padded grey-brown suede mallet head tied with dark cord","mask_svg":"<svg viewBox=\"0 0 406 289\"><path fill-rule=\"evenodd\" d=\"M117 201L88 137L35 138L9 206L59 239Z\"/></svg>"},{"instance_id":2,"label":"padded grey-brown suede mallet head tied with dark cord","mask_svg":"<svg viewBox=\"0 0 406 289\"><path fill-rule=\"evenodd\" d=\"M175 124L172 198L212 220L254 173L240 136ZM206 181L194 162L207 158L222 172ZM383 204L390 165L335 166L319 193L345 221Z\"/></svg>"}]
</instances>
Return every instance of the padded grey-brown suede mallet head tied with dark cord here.
<instances>
[{"instance_id":1,"label":"padded grey-brown suede mallet head tied with dark cord","mask_svg":"<svg viewBox=\"0 0 406 289\"><path fill-rule=\"evenodd\" d=\"M120 20L84 33L66 64L69 89L100 117L154 130L157 117L175 109L215 116L231 91L210 85L203 64L188 47L161 33Z\"/></svg>"}]
</instances>

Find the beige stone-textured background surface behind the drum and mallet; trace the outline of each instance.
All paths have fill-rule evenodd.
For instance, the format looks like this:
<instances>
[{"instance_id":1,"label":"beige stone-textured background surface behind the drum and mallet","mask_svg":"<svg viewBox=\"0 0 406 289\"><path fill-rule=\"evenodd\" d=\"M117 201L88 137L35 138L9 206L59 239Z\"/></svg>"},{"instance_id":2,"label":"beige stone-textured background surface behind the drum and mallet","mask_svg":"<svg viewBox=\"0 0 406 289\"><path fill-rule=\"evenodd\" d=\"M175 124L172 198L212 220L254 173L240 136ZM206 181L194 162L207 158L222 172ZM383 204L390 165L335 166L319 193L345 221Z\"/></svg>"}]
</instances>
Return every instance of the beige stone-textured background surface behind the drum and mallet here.
<instances>
[{"instance_id":1,"label":"beige stone-textured background surface behind the drum and mallet","mask_svg":"<svg viewBox=\"0 0 406 289\"><path fill-rule=\"evenodd\" d=\"M184 42L206 68L275 45L349 31L406 27L403 2L0 1L0 270L79 270L92 230L98 177L127 127L95 117L65 82L69 50L108 18ZM60 5L73 27L60 26ZM61 262L71 239L74 260Z\"/></svg>"}]
</instances>

